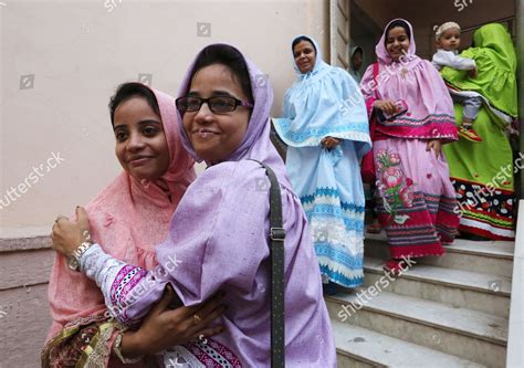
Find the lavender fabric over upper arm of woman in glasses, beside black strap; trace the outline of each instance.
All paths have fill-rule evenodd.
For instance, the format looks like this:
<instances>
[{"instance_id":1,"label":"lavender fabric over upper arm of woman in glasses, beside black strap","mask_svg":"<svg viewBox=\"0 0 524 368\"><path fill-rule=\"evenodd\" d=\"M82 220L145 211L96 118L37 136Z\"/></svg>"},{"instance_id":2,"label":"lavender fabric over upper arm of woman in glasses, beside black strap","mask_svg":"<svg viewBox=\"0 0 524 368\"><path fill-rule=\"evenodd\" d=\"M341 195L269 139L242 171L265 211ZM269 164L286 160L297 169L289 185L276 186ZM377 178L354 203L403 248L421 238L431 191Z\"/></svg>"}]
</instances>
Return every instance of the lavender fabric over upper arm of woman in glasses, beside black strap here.
<instances>
[{"instance_id":1,"label":"lavender fabric over upper arm of woman in glasses, beside black strap","mask_svg":"<svg viewBox=\"0 0 524 368\"><path fill-rule=\"evenodd\" d=\"M175 212L169 240L157 246L185 305L219 290L252 292L269 255L268 214L269 180L259 164L223 162L199 176Z\"/></svg>"}]
</instances>

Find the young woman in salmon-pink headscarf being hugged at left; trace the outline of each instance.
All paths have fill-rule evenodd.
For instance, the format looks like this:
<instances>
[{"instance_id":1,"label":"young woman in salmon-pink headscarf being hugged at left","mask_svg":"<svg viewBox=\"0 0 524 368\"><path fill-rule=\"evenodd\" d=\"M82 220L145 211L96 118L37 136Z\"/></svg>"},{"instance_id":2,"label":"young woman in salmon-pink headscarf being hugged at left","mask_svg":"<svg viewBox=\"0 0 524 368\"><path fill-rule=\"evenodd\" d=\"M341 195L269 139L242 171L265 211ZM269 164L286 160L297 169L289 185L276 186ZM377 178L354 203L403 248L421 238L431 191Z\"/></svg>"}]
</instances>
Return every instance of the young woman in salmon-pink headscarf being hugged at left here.
<instances>
[{"instance_id":1,"label":"young woman in salmon-pink headscarf being hugged at left","mask_svg":"<svg viewBox=\"0 0 524 368\"><path fill-rule=\"evenodd\" d=\"M109 109L115 153L124 172L87 204L92 236L116 259L151 270L157 265L155 244L167 235L172 212L195 179L193 160L180 143L174 97L126 83L118 87ZM119 366L112 351L118 325L109 317L96 284L70 266L74 264L56 256L49 284L53 324L42 366ZM181 312L192 316L196 309L169 311L163 316L157 309L144 325L160 336L163 322ZM135 365L142 366L144 361Z\"/></svg>"}]
</instances>

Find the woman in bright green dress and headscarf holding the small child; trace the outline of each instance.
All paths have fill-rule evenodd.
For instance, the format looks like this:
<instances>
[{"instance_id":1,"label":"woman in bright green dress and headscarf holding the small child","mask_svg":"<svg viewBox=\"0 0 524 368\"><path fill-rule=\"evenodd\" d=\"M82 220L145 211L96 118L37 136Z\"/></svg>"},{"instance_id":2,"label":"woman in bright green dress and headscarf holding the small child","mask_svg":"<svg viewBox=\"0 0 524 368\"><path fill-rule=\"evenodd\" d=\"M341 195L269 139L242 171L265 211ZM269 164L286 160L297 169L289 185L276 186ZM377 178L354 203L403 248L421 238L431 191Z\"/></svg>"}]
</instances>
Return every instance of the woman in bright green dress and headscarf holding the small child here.
<instances>
[{"instance_id":1,"label":"woman in bright green dress and headscarf holding the small child","mask_svg":"<svg viewBox=\"0 0 524 368\"><path fill-rule=\"evenodd\" d=\"M478 76L450 67L444 67L441 74L451 94L482 97L475 130L483 141L460 139L446 145L443 150L462 214L459 230L474 238L511 240L515 236L514 174L520 169L513 165L507 138L517 118L516 54L510 33L499 23L481 27L473 42L474 46L461 56L475 61ZM454 105L454 113L460 125L460 104Z\"/></svg>"}]
</instances>

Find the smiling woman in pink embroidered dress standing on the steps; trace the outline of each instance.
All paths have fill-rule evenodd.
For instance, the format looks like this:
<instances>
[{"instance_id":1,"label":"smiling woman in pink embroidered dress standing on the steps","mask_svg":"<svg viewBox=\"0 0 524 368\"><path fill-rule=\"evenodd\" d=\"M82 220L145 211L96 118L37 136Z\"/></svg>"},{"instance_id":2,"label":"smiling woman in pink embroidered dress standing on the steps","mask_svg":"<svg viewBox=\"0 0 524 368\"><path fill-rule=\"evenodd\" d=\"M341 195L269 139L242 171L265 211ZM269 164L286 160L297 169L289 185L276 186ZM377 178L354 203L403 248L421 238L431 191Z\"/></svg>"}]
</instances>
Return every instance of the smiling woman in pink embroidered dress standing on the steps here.
<instances>
[{"instance_id":1,"label":"smiling woman in pink embroidered dress standing on the steps","mask_svg":"<svg viewBox=\"0 0 524 368\"><path fill-rule=\"evenodd\" d=\"M389 22L376 53L360 88L371 120L379 117L371 124L377 210L392 257L385 269L399 272L408 257L441 255L453 241L459 211L441 146L457 140L457 128L442 78L415 54L411 24Z\"/></svg>"}]
</instances>

